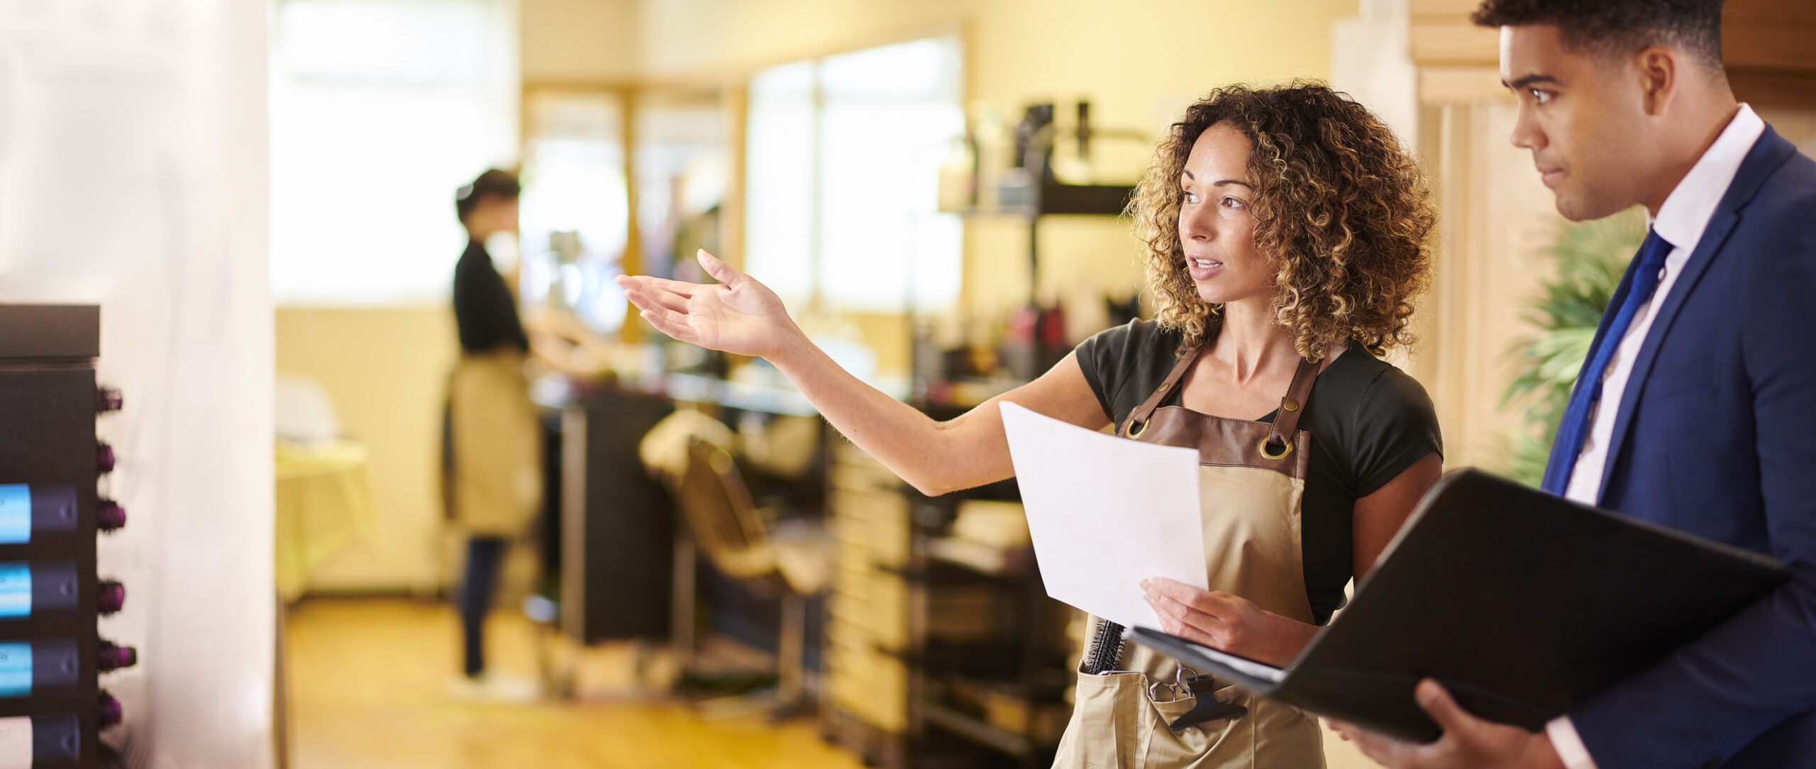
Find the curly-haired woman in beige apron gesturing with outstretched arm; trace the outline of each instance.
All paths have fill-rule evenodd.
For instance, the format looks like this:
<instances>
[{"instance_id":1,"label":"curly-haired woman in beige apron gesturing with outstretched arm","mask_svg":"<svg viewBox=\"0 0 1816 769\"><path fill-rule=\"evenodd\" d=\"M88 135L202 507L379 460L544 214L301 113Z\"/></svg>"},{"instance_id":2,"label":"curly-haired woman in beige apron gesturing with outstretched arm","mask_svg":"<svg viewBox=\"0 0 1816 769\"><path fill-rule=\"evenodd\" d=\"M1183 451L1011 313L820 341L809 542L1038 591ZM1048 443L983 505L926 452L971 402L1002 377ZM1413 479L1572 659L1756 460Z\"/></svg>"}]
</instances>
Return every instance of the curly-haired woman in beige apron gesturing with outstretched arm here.
<instances>
[{"instance_id":1,"label":"curly-haired woman in beige apron gesturing with outstretched arm","mask_svg":"<svg viewBox=\"0 0 1816 769\"><path fill-rule=\"evenodd\" d=\"M928 494L1013 474L999 400L1199 449L1209 591L1146 580L1162 629L1284 665L1438 478L1431 400L1380 360L1407 342L1433 213L1367 109L1317 84L1213 91L1160 140L1130 213L1155 320L935 422L814 347L763 284L619 278L663 333L775 364L846 438ZM1106 522L1140 511L1104 511ZM1200 700L1204 700L1200 704ZM1061 767L1320 767L1313 716L1197 676L1093 620ZM1240 705L1240 707L1228 707Z\"/></svg>"}]
</instances>

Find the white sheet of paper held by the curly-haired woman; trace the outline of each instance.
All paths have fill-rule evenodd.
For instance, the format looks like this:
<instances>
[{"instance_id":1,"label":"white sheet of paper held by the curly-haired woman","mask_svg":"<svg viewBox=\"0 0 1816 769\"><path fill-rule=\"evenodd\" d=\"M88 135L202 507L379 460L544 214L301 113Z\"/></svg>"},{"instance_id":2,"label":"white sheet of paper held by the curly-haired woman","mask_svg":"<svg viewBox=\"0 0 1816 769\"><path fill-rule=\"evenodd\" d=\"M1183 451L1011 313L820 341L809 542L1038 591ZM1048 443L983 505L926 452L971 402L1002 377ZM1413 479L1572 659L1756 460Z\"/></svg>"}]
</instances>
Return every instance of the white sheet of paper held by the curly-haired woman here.
<instances>
[{"instance_id":1,"label":"white sheet of paper held by the curly-haired woman","mask_svg":"<svg viewBox=\"0 0 1816 769\"><path fill-rule=\"evenodd\" d=\"M1199 453L1142 444L1002 402L1046 594L1124 627L1160 627L1140 580L1206 589Z\"/></svg>"}]
</instances>

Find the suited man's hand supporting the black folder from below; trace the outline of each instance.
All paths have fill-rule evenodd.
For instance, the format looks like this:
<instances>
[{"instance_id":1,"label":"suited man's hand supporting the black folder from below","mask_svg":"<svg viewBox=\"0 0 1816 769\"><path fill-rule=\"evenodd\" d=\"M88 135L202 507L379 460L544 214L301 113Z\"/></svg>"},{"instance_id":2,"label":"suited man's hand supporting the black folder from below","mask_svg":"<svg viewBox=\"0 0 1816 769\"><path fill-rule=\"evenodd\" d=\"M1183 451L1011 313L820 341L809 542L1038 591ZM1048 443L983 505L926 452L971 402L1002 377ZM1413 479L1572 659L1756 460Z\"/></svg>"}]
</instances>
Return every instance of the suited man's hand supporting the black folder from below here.
<instances>
[{"instance_id":1,"label":"suited man's hand supporting the black folder from below","mask_svg":"<svg viewBox=\"0 0 1816 769\"><path fill-rule=\"evenodd\" d=\"M1335 720L1331 727L1393 769L1564 769L1545 734L1471 716L1431 678L1418 682L1413 696L1444 729L1436 742L1402 742Z\"/></svg>"}]
</instances>

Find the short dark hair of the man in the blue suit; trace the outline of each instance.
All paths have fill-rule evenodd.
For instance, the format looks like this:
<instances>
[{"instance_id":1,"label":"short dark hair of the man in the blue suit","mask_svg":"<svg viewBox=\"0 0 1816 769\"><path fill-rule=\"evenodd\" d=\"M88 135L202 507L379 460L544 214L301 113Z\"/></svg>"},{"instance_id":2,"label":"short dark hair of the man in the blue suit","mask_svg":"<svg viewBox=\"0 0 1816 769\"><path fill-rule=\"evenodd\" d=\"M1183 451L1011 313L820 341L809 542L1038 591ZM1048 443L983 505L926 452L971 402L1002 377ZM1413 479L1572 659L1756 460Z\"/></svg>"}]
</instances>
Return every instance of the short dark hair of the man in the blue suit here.
<instances>
[{"instance_id":1,"label":"short dark hair of the man in the blue suit","mask_svg":"<svg viewBox=\"0 0 1816 769\"><path fill-rule=\"evenodd\" d=\"M1722 0L1482 0L1484 27L1554 24L1576 51L1629 55L1673 44L1722 67Z\"/></svg>"}]
</instances>

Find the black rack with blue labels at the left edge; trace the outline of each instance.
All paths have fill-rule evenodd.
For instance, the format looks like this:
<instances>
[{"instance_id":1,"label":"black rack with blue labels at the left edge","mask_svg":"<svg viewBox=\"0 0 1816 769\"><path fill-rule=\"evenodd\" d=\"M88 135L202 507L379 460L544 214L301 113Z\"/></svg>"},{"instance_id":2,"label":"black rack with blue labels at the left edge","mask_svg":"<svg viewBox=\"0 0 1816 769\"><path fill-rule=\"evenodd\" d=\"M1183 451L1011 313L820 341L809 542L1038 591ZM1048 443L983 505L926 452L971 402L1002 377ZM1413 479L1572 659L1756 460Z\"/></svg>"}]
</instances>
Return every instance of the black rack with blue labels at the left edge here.
<instances>
[{"instance_id":1,"label":"black rack with blue labels at the left edge","mask_svg":"<svg viewBox=\"0 0 1816 769\"><path fill-rule=\"evenodd\" d=\"M0 769L93 769L120 722L100 678L136 662L94 618L125 587L94 571L94 538L125 524L100 491L113 447L96 418L100 307L0 305Z\"/></svg>"}]
</instances>

